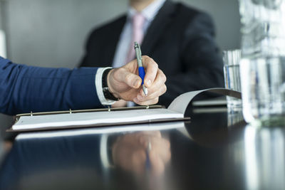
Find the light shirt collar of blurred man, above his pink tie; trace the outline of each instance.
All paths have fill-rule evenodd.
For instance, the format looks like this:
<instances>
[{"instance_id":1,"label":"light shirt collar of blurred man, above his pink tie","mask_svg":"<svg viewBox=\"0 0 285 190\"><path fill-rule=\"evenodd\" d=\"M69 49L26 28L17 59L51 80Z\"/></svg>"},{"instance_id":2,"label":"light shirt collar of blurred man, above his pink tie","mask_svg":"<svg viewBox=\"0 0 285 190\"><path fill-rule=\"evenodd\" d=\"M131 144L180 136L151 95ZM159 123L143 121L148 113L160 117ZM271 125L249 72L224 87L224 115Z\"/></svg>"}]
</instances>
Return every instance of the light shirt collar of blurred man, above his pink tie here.
<instances>
[{"instance_id":1,"label":"light shirt collar of blurred man, above his pink tie","mask_svg":"<svg viewBox=\"0 0 285 190\"><path fill-rule=\"evenodd\" d=\"M149 6L145 7L145 9L143 9L141 11L142 15L145 16L145 19L147 19L147 21L152 21L155 18L155 15L157 14L157 12L162 7L162 5L165 3L165 1L166 0L154 1L152 4L150 4ZM129 9L128 9L128 19L132 18L137 12L138 11L133 9L133 7L129 6Z\"/></svg>"}]
</instances>

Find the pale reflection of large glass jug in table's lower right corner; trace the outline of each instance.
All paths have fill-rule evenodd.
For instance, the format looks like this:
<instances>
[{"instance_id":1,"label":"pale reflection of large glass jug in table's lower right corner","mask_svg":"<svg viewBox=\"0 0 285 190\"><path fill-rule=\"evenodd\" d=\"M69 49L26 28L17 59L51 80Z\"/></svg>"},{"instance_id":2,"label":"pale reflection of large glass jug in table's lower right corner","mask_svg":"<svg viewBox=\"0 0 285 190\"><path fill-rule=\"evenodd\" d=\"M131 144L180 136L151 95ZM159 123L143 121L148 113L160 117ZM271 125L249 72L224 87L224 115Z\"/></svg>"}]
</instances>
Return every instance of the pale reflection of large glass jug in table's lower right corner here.
<instances>
[{"instance_id":1,"label":"pale reflection of large glass jug in table's lower right corner","mask_svg":"<svg viewBox=\"0 0 285 190\"><path fill-rule=\"evenodd\" d=\"M247 189L285 189L284 130L247 126L244 153Z\"/></svg>"}]
</instances>

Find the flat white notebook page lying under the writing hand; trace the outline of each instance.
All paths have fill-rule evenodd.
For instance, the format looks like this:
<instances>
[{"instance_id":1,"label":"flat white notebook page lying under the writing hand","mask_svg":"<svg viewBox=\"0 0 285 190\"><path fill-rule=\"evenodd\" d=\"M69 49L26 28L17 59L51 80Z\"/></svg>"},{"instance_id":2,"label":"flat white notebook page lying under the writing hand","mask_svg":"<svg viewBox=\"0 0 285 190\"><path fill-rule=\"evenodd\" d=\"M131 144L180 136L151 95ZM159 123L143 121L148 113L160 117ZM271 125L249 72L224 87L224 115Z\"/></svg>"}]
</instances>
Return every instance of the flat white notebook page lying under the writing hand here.
<instances>
[{"instance_id":1,"label":"flat white notebook page lying under the writing hand","mask_svg":"<svg viewBox=\"0 0 285 190\"><path fill-rule=\"evenodd\" d=\"M167 109L123 110L111 112L81 112L58 115L22 116L13 130L52 127L123 125L142 122L183 119L184 115Z\"/></svg>"}]
</instances>

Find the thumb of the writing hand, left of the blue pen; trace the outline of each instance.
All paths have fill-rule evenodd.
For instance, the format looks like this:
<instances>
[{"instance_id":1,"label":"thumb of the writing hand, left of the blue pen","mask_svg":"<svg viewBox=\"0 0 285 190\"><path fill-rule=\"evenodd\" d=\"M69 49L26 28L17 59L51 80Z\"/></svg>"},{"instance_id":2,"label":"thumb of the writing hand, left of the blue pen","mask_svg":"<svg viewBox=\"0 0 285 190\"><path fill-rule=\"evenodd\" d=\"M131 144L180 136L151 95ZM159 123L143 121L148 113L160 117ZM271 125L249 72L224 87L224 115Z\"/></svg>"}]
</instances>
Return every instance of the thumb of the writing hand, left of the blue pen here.
<instances>
[{"instance_id":1,"label":"thumb of the writing hand, left of the blue pen","mask_svg":"<svg viewBox=\"0 0 285 190\"><path fill-rule=\"evenodd\" d=\"M130 73L130 71L125 68L118 68L114 75L118 82L125 83L131 88L140 88L140 84L142 83L142 79L138 75Z\"/></svg>"}]
</instances>

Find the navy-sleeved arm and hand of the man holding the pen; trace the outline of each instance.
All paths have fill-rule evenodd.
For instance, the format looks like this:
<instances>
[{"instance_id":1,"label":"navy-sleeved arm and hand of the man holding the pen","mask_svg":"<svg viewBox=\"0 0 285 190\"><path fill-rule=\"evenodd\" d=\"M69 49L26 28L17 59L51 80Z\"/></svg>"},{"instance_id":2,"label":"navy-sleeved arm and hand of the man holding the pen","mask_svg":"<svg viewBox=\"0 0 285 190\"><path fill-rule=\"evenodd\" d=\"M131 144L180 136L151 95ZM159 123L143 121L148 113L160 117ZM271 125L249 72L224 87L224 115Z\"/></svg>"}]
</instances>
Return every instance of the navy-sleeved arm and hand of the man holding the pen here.
<instances>
[{"instance_id":1,"label":"navy-sleeved arm and hand of the man holding the pen","mask_svg":"<svg viewBox=\"0 0 285 190\"><path fill-rule=\"evenodd\" d=\"M121 68L38 68L11 63L0 57L0 112L78 110L132 100L139 105L155 104L165 93L165 75L157 63L143 56L147 96L136 75L135 60ZM147 83L150 81L150 83ZM157 90L158 89L158 90Z\"/></svg>"}]
</instances>

